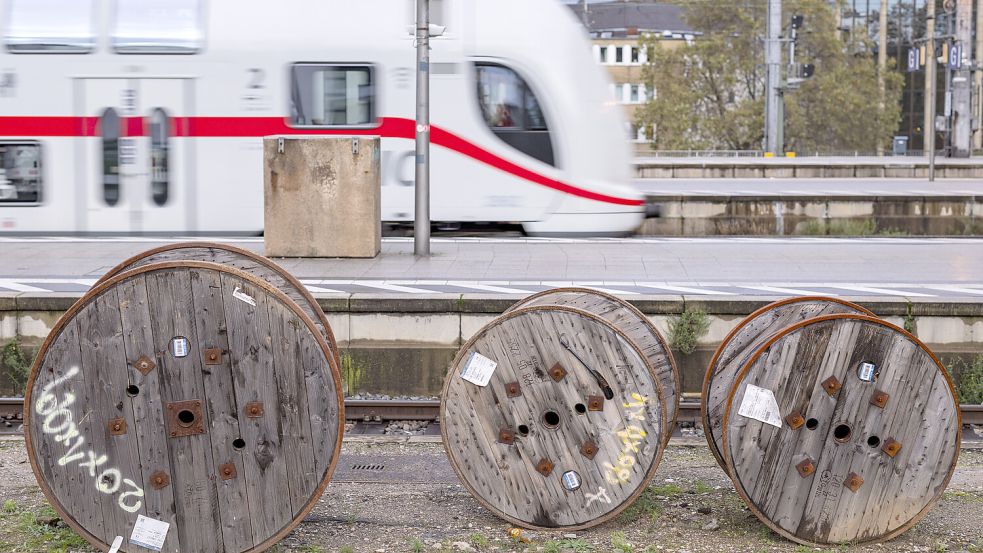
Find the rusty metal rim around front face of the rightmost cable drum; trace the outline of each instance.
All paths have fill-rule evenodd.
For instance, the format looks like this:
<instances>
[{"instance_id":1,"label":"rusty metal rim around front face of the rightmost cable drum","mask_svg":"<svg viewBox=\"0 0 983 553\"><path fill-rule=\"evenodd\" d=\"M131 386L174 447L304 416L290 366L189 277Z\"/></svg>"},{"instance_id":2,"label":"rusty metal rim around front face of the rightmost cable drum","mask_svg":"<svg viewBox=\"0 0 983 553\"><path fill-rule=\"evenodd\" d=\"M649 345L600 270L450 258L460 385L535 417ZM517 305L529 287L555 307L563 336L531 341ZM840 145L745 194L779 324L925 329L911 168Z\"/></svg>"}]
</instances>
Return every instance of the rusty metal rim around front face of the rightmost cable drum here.
<instances>
[{"instance_id":1,"label":"rusty metal rim around front face of the rightmost cable drum","mask_svg":"<svg viewBox=\"0 0 983 553\"><path fill-rule=\"evenodd\" d=\"M905 329L903 329L903 328L901 328L901 327L899 327L897 325L891 324L891 323L889 323L889 322L887 322L887 321L885 321L883 319L877 318L877 317L872 317L872 316L867 316L867 315L856 315L856 314L853 314L853 313L837 313L835 315L822 315L820 317L814 317L812 319L806 319L804 321L799 321L798 323L795 323L793 325L790 325L787 328L784 328L781 331L777 332L774 336L772 336L771 338L769 338L767 342L765 342L764 344L762 344L761 347L759 347L754 352L754 355L751 356L751 358L748 360L748 362L744 364L744 366L741 368L740 373L738 373L737 378L735 378L733 386L731 386L730 393L727 395L727 406L726 406L726 409L724 409L724 419L723 419L723 425L722 425L722 427L725 429L725 431L722 433L722 436L721 436L721 438L723 440L723 447L722 447L722 449L723 449L723 453L724 453L724 460L726 462L726 466L724 467L724 472L727 473L727 476L730 478L731 482L734 484L734 489L735 489L735 491L737 491L737 494L741 496L741 499L744 501L744 504L747 505L748 509L750 509L751 512L754 513L754 515L756 517L758 517L758 520L760 520L761 522L763 522L766 526L768 526L769 528L771 528L772 530L774 530L779 535L785 536L786 538L788 538L788 539L790 539L790 540L792 540L792 541L794 541L796 543L800 543L802 545L808 545L808 546L815 546L815 547L825 547L825 546L828 546L828 545L838 545L838 544L834 544L834 543L822 543L822 542L811 542L811 541L808 541L808 540L804 540L802 538L799 538L799 537L795 536L794 534L792 534L791 532L785 530L784 528L782 528L782 527L778 526L777 524L775 524L774 522L772 522L771 519L769 519L768 517L766 517L764 515L764 513L762 513L758 509L758 507L754 504L754 502L751 501L751 498L747 495L747 492L744 490L743 484L737 479L737 477L736 477L736 475L734 473L733 457L730 454L730 449L727 447L728 444L727 444L727 432L726 432L726 428L727 428L727 423L729 422L728 419L730 417L730 410L733 407L734 394L737 392L738 386L740 385L741 381L743 381L744 378L747 376L747 373L750 372L751 367L754 365L755 361L757 361L758 358L761 357L761 355L763 355L764 352L768 350L768 348L770 348L775 342L777 342L778 340L782 339L786 335L791 334L792 332L795 332L796 330L799 330L799 329L801 329L803 327L806 327L806 326L811 325L811 324L821 323L821 322L824 322L824 321L833 321L833 320L840 320L840 319L851 319L851 320L856 320L856 321L866 321L866 322L870 322L870 323L874 323L874 324L879 324L879 325L882 325L882 326L886 326L886 327L888 327L888 328L890 328L892 330L895 330L897 332L902 333L906 338L908 338L909 340L911 340L912 343L914 343L916 346L918 346L919 348L921 348L925 353L927 353L929 355L929 357L932 359L932 361L935 362L936 368L942 374L942 377L945 379L946 384L949 386L949 393L952 395L953 401L954 401L954 403L956 405L956 409L954 410L955 413L956 413L956 432L955 432L955 435L956 435L956 443L955 443L955 453L953 455L952 462L949 464L949 472L948 472L948 474L946 474L945 480L942 482L942 485L939 487L938 493L936 493L934 497L932 497L931 499L929 499L925 503L925 506L922 507L922 509L918 513L916 513L915 516L913 516L909 521L907 521L906 523L902 524L901 526L895 528L894 530L892 530L892 531L890 531L890 532L888 532L888 533L886 533L886 534L884 534L882 536L879 536L877 538L871 539L871 540L864 540L862 542L849 542L849 543L863 543L865 545L882 543L882 542L885 542L885 541L888 541L888 540L891 540L891 539L896 538L897 536L903 534L904 532L906 532L909 529L911 529L912 526L914 526L915 524L917 524L918 521L920 521L926 514L928 514L928 512L932 509L932 507L934 507L942 499L942 495L945 493L945 489L949 486L949 481L952 480L952 475L956 471L956 464L959 461L959 453L960 453L960 449L961 449L961 446L962 446L962 432L961 432L961 429L962 429L962 412L961 412L961 409L959 409L959 403L958 403L959 400L957 399L959 396L956 394L956 388L952 384L952 379L949 378L949 373L945 370L945 367L942 366L942 363L939 361L939 358L936 357L934 353L932 353L932 350L930 350L928 348L928 346L926 346L921 340L919 340L915 335L911 334L907 330L905 330Z\"/></svg>"}]
</instances>

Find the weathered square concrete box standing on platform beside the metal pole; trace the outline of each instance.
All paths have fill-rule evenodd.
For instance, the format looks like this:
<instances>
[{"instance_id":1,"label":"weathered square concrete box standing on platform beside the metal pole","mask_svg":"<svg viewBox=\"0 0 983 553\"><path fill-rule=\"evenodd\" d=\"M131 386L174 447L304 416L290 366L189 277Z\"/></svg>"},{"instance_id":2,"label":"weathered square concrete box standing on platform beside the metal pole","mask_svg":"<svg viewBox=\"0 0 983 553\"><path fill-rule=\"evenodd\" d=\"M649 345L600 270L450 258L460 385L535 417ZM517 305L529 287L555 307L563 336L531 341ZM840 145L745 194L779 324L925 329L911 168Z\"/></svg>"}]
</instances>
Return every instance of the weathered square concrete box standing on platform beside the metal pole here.
<instances>
[{"instance_id":1,"label":"weathered square concrete box standing on platform beside the metal pole","mask_svg":"<svg viewBox=\"0 0 983 553\"><path fill-rule=\"evenodd\" d=\"M379 159L377 136L264 138L266 255L378 255Z\"/></svg>"}]
</instances>

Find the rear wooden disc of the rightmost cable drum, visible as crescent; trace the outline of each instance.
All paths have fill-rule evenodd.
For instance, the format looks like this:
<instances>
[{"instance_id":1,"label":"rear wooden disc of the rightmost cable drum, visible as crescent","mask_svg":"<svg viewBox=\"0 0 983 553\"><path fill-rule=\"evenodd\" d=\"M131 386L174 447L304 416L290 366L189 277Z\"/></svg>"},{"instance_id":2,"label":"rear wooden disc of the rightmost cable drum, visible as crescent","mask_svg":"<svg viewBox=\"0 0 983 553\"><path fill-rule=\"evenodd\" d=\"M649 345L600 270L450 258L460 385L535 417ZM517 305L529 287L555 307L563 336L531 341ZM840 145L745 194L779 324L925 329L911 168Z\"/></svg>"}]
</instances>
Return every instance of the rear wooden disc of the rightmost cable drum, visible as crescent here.
<instances>
[{"instance_id":1,"label":"rear wooden disc of the rightmost cable drum, visible as crescent","mask_svg":"<svg viewBox=\"0 0 983 553\"><path fill-rule=\"evenodd\" d=\"M857 304L837 298L788 298L751 313L724 337L703 378L703 401L700 405L707 444L721 467L725 467L720 453L724 408L737 373L751 355L776 333L800 321L836 313L874 315Z\"/></svg>"}]
</instances>

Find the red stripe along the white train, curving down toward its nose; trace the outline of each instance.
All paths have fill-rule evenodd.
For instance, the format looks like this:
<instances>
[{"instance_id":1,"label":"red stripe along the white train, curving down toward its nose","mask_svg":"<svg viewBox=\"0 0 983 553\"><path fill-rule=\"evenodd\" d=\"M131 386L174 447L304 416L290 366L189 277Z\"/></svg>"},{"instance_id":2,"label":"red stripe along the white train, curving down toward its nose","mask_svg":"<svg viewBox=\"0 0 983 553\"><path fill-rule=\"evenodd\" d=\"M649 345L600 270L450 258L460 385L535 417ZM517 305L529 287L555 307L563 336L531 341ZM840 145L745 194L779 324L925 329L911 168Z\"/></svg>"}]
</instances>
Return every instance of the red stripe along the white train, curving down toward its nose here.
<instances>
[{"instance_id":1,"label":"red stripe along the white train, curving down toward its nose","mask_svg":"<svg viewBox=\"0 0 983 553\"><path fill-rule=\"evenodd\" d=\"M0 136L97 136L98 117L0 117ZM383 117L379 125L363 129L295 128L282 117L174 117L173 136L190 137L261 137L269 135L378 135L384 138L412 139L415 122L402 117ZM123 136L144 136L147 125L143 117L126 117ZM572 184L541 175L490 152L469 140L440 127L431 126L430 139L459 154L480 161L530 182L580 198L616 205L640 206L642 200L619 198L578 188Z\"/></svg>"}]
</instances>

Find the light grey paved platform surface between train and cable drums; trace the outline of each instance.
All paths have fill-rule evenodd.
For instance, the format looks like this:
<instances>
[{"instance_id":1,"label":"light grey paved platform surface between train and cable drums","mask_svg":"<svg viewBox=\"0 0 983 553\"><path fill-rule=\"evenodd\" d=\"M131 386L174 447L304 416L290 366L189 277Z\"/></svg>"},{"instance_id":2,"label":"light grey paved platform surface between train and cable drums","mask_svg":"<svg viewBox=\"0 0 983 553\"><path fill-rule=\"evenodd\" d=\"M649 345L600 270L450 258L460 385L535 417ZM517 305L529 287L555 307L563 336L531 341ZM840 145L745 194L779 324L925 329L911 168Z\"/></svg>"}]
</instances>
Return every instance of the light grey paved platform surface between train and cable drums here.
<instances>
[{"instance_id":1,"label":"light grey paved platform surface between train and cable drums","mask_svg":"<svg viewBox=\"0 0 983 553\"><path fill-rule=\"evenodd\" d=\"M199 238L200 239L200 238ZM79 292L141 251L186 238L0 237L0 292ZM210 238L262 253L259 238ZM979 298L983 239L386 238L374 259L277 259L320 294L527 294Z\"/></svg>"}]
</instances>

